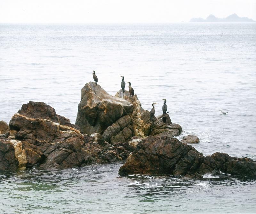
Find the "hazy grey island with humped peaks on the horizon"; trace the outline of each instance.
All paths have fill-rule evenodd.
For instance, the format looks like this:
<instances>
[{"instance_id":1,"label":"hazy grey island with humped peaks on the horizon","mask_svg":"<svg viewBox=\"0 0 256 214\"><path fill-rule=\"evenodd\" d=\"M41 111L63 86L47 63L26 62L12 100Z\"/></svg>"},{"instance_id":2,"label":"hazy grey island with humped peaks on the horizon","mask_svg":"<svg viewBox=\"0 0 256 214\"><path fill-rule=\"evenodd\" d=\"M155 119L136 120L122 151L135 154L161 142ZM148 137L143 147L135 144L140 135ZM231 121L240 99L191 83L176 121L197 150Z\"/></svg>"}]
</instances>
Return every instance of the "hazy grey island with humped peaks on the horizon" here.
<instances>
[{"instance_id":1,"label":"hazy grey island with humped peaks on the horizon","mask_svg":"<svg viewBox=\"0 0 256 214\"><path fill-rule=\"evenodd\" d=\"M248 17L239 17L236 13L226 17L226 18L217 18L214 15L209 15L206 19L203 18L191 18L190 22L255 22Z\"/></svg>"}]
</instances>

